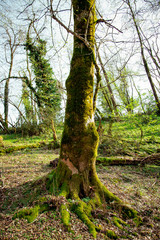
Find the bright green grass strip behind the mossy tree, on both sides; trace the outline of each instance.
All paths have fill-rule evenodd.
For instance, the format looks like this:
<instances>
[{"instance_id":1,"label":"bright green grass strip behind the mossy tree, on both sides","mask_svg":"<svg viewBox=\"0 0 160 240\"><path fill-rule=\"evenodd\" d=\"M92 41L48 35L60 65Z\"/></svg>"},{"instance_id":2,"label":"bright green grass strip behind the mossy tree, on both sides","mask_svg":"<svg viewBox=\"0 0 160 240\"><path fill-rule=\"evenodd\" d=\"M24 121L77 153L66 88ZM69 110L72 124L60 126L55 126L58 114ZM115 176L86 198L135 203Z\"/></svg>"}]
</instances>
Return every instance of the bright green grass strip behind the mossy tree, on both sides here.
<instances>
[{"instance_id":1,"label":"bright green grass strip behind the mossy tree, on both sides","mask_svg":"<svg viewBox=\"0 0 160 240\"><path fill-rule=\"evenodd\" d=\"M97 123L98 125L98 123ZM160 116L132 116L112 124L112 136L108 136L109 122L102 121L99 154L105 156L140 155L156 153L160 149ZM60 143L63 124L56 126ZM43 147L52 141L52 133L22 137L20 134L1 135L4 148L0 152L12 152L24 148ZM16 149L17 148L17 149ZM5 150L4 149L8 149Z\"/></svg>"}]
</instances>

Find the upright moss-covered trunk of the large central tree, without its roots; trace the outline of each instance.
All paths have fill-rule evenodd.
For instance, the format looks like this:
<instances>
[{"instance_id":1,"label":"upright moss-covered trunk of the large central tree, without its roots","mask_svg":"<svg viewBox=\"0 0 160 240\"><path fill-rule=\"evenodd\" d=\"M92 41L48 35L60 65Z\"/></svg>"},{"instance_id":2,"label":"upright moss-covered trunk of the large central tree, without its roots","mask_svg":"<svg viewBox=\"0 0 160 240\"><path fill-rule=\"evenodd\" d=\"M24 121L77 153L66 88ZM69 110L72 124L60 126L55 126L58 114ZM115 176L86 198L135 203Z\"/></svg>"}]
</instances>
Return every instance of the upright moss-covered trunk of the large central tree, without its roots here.
<instances>
[{"instance_id":1,"label":"upright moss-covered trunk of the large central tree, without its roots","mask_svg":"<svg viewBox=\"0 0 160 240\"><path fill-rule=\"evenodd\" d=\"M66 81L67 106L61 143L58 182L71 195L88 196L95 185L98 134L93 113L95 4L73 1L74 31L90 44L74 37L74 51ZM72 196L71 196L72 197Z\"/></svg>"}]
</instances>

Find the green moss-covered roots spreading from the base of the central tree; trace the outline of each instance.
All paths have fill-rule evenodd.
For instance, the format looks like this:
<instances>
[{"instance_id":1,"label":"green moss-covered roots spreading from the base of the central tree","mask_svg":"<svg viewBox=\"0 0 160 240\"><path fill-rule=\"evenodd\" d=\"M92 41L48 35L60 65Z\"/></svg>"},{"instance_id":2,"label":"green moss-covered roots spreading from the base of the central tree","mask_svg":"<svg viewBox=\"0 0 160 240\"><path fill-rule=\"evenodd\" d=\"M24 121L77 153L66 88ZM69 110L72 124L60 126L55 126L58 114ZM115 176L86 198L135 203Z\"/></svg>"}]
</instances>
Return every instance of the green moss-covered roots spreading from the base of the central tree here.
<instances>
[{"instance_id":1,"label":"green moss-covered roots spreading from the base of the central tree","mask_svg":"<svg viewBox=\"0 0 160 240\"><path fill-rule=\"evenodd\" d=\"M46 178L43 178L49 190L49 195L39 198L32 208L20 210L13 218L25 218L28 222L33 222L44 211L58 210L65 228L72 231L70 213L74 212L86 224L95 239L99 231L110 239L118 239L118 236L110 229L97 226L94 223L94 218L105 219L109 225L113 224L125 232L127 232L128 227L125 222L127 218L132 218L136 225L141 224L141 218L138 216L137 211L124 204L118 197L108 191L100 180L97 180L98 189L94 189L94 192L92 191L88 197L81 198L79 191L74 189L73 184L72 191L70 191L66 182L61 187L57 186L56 179L55 170L48 174ZM41 183L39 182L39 184ZM112 215L108 219L107 215L110 211L112 211Z\"/></svg>"}]
</instances>

